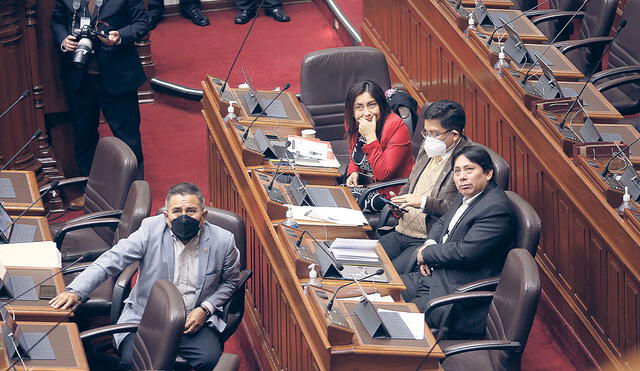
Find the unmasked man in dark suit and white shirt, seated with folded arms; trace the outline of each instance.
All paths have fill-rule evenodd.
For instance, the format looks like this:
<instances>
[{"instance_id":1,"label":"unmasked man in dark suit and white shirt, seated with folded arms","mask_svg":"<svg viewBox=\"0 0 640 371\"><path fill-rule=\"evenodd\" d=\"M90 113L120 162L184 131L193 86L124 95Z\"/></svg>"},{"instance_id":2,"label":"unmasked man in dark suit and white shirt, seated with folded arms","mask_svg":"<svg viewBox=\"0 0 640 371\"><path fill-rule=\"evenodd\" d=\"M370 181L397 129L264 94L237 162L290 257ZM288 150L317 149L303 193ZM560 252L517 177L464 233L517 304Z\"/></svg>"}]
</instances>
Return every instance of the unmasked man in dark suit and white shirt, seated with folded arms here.
<instances>
[{"instance_id":1,"label":"unmasked man in dark suit and white shirt, seated with folded arms","mask_svg":"<svg viewBox=\"0 0 640 371\"><path fill-rule=\"evenodd\" d=\"M417 250L419 271L401 276L407 286L402 296L421 309L457 286L498 276L514 242L513 207L493 181L489 153L480 146L466 146L451 162L460 195ZM431 326L440 325L445 310L433 312L427 319Z\"/></svg>"}]
</instances>

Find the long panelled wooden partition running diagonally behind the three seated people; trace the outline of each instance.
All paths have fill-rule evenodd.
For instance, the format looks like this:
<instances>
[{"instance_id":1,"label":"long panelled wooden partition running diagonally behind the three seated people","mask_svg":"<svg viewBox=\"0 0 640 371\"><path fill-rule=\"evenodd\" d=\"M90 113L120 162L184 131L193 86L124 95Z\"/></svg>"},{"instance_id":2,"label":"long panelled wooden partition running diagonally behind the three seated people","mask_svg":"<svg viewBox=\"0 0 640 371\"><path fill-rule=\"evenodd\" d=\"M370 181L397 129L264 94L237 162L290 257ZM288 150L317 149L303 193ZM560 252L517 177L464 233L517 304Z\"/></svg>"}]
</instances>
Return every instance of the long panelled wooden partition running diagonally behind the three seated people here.
<instances>
[{"instance_id":1,"label":"long panelled wooden partition running diagonally behind the three seated people","mask_svg":"<svg viewBox=\"0 0 640 371\"><path fill-rule=\"evenodd\" d=\"M443 1L363 4L363 43L385 54L392 80L419 103L460 102L469 138L509 163L510 189L542 220L536 262L548 302L602 367L632 368L623 356L640 345L640 231L498 78ZM567 337L562 326L551 331Z\"/></svg>"}]
</instances>

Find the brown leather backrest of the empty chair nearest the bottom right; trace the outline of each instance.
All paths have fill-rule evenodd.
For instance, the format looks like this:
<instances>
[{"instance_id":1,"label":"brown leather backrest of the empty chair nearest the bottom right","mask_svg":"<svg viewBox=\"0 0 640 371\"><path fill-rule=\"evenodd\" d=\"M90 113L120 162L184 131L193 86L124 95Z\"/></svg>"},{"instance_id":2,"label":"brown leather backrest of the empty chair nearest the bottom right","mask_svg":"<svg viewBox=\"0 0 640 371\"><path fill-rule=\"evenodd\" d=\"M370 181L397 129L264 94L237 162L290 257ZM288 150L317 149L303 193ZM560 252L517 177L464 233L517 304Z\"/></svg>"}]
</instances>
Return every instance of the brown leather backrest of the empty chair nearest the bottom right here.
<instances>
[{"instance_id":1,"label":"brown leather backrest of the empty chair nearest the bottom right","mask_svg":"<svg viewBox=\"0 0 640 371\"><path fill-rule=\"evenodd\" d=\"M487 316L486 339L517 341L520 351L489 351L494 370L519 370L540 297L540 276L531 254L512 249Z\"/></svg>"}]
</instances>

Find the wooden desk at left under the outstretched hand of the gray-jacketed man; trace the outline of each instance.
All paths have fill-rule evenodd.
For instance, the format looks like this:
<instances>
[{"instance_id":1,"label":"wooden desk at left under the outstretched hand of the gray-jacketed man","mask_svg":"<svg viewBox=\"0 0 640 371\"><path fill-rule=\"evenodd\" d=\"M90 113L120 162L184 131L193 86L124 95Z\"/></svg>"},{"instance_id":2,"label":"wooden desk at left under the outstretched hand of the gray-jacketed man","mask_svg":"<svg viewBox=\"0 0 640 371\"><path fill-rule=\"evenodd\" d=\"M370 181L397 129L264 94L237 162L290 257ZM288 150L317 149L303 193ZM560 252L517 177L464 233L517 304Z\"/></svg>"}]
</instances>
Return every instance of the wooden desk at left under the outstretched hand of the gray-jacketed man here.
<instances>
[{"instance_id":1,"label":"wooden desk at left under the outstretched hand of the gray-jacketed man","mask_svg":"<svg viewBox=\"0 0 640 371\"><path fill-rule=\"evenodd\" d=\"M36 284L51 274L59 271L59 268L22 268L22 267L7 267L7 272L13 276L28 276L33 278L33 283ZM62 274L58 274L53 278L48 279L43 283L44 285L54 285L56 287L56 295L64 292L65 284ZM38 289L35 289L36 295ZM14 293L15 295L21 294L20 292ZM6 302L7 299L0 299L0 304ZM54 309L49 306L49 300L16 300L7 306L9 311L13 311L16 314L18 321L58 321L65 316L69 316L69 310ZM73 315L71 315L73 316Z\"/></svg>"}]
</instances>

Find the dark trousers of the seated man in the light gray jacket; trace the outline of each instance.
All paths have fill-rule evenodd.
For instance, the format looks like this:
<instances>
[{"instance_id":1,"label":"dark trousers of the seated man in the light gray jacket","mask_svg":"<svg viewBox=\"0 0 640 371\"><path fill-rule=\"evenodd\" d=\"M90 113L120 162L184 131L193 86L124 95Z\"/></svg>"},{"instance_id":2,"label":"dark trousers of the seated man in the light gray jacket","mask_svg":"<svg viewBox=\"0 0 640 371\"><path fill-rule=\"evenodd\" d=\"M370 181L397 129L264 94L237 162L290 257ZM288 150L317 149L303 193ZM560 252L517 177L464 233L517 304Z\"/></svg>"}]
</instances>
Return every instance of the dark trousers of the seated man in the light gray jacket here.
<instances>
[{"instance_id":1,"label":"dark trousers of the seated man in the light gray jacket","mask_svg":"<svg viewBox=\"0 0 640 371\"><path fill-rule=\"evenodd\" d=\"M211 327L203 327L193 335L182 335L178 354L196 371L211 371L222 354L222 344L218 336L218 332ZM134 333L127 335L118 348L122 370L131 370L133 366L135 337Z\"/></svg>"}]
</instances>

